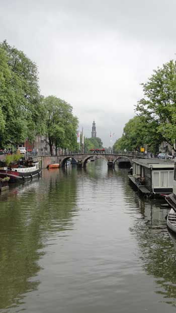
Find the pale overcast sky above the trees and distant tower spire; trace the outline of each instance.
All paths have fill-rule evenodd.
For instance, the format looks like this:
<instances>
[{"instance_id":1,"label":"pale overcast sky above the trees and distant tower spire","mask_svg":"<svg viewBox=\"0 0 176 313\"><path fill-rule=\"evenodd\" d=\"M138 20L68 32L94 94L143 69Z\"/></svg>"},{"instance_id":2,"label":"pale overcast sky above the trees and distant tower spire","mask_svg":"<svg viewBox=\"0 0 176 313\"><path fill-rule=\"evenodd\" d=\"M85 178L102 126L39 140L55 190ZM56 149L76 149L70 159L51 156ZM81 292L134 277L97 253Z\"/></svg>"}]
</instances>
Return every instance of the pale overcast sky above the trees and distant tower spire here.
<instances>
[{"instance_id":1,"label":"pale overcast sky above the trees and distant tower spire","mask_svg":"<svg viewBox=\"0 0 176 313\"><path fill-rule=\"evenodd\" d=\"M0 41L36 62L44 96L73 106L110 145L142 97L140 83L176 53L175 0L0 0Z\"/></svg>"}]
</instances>

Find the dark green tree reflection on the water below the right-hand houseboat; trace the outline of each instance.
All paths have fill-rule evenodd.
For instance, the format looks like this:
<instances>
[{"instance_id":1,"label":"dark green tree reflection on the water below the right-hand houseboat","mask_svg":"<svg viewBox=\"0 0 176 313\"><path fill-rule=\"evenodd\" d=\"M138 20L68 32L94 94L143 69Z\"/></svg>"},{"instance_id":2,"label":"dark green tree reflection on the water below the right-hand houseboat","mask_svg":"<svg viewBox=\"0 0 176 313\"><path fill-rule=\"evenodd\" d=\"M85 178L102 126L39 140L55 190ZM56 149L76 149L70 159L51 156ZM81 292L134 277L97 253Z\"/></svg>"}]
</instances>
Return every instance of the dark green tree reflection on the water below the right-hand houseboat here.
<instances>
[{"instance_id":1,"label":"dark green tree reflection on the water below the right-hand houseboat","mask_svg":"<svg viewBox=\"0 0 176 313\"><path fill-rule=\"evenodd\" d=\"M165 216L168 209L160 207L158 200L145 202L137 193L134 200L142 219L136 218L136 223L130 230L138 240L142 267L148 275L156 278L155 293L163 296L163 302L175 306L176 239L173 234L168 235L166 228Z\"/></svg>"}]
</instances>

